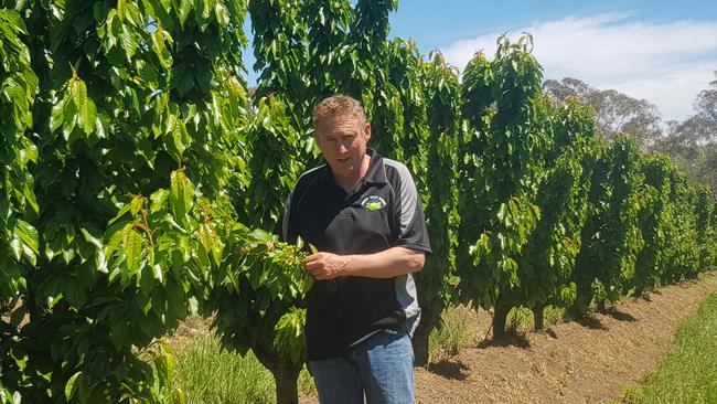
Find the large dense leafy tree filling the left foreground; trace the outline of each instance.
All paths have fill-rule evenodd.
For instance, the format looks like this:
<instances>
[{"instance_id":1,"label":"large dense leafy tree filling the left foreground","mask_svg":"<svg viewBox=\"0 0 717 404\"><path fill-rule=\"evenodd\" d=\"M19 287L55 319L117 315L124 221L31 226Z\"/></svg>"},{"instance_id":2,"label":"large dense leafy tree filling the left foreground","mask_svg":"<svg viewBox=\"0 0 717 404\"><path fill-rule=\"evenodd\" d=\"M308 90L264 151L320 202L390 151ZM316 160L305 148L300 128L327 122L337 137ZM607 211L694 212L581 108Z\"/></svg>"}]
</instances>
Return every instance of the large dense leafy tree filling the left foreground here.
<instances>
[{"instance_id":1,"label":"large dense leafy tree filling the left foreground","mask_svg":"<svg viewBox=\"0 0 717 404\"><path fill-rule=\"evenodd\" d=\"M22 182L2 194L13 198L3 220L19 224L8 242L22 255L0 289L12 286L21 304L3 321L3 384L36 402L181 400L171 354L153 341L200 309L223 256L215 219L242 164L245 6L26 1L17 10L2 10L12 22L2 24L3 50L13 50L3 66L18 74L7 86L2 75L12 95L2 106L23 115L3 114L2 141L13 142L8 167ZM7 231L3 222L2 240Z\"/></svg>"}]
</instances>

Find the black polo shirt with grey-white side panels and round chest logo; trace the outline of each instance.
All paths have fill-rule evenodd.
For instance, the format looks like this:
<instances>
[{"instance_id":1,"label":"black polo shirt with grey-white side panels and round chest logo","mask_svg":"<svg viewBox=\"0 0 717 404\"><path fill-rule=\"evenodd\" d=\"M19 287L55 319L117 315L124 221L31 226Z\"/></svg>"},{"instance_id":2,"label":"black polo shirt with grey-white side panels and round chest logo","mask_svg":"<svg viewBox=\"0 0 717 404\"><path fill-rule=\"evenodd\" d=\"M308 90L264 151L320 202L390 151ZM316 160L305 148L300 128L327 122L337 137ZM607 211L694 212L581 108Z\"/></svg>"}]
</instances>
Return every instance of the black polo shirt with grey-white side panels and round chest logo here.
<instances>
[{"instance_id":1,"label":"black polo shirt with grey-white side panels and round chest logo","mask_svg":"<svg viewBox=\"0 0 717 404\"><path fill-rule=\"evenodd\" d=\"M406 166L373 149L368 172L352 192L327 164L307 171L289 195L282 237L301 237L319 251L372 254L402 246L430 252L416 185ZM318 280L307 297L310 360L336 358L387 327L413 332L420 313L410 274L376 279L342 276Z\"/></svg>"}]
</instances>

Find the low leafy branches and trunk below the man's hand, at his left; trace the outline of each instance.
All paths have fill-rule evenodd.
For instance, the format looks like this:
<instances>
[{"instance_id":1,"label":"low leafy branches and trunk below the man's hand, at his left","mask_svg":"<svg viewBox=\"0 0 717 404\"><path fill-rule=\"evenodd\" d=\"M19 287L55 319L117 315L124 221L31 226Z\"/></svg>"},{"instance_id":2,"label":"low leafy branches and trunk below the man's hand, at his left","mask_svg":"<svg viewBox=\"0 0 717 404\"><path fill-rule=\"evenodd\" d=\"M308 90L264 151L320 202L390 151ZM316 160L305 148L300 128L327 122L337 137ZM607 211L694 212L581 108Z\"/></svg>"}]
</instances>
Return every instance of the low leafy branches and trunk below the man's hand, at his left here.
<instances>
[{"instance_id":1,"label":"low leafy branches and trunk below the man's hand, at his left","mask_svg":"<svg viewBox=\"0 0 717 404\"><path fill-rule=\"evenodd\" d=\"M212 293L213 328L223 347L254 352L274 375L277 403L298 403L297 380L307 359L302 308L313 284L302 245L279 243L235 224L226 238L221 279Z\"/></svg>"}]
</instances>

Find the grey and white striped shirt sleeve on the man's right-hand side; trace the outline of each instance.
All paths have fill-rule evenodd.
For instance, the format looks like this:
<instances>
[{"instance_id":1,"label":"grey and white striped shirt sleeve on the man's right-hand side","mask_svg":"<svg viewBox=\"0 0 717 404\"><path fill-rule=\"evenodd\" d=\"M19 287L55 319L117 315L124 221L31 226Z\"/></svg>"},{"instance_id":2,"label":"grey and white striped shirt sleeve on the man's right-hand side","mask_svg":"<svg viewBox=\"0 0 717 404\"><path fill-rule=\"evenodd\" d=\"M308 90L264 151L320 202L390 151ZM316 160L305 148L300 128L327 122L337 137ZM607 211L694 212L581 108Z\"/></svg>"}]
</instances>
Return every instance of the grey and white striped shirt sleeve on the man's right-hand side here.
<instances>
[{"instance_id":1,"label":"grey and white striped shirt sleeve on the man's right-hand side","mask_svg":"<svg viewBox=\"0 0 717 404\"><path fill-rule=\"evenodd\" d=\"M395 166L395 168L398 171L398 179L394 184L396 201L393 206L398 222L398 237L395 246L430 253L424 210L420 206L414 179L404 164Z\"/></svg>"}]
</instances>

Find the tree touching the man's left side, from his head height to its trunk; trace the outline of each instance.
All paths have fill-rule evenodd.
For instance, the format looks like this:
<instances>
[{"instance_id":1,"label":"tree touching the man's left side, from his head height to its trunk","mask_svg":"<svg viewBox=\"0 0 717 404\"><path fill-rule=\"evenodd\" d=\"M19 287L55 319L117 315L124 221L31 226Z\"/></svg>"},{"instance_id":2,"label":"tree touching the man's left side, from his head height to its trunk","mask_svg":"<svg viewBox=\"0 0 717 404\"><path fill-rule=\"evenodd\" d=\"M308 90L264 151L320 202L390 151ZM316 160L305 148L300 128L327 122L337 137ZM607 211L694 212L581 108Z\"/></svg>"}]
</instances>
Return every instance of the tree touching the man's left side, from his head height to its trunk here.
<instances>
[{"instance_id":1,"label":"tree touching the man's left side, from his head height to its trunk","mask_svg":"<svg viewBox=\"0 0 717 404\"><path fill-rule=\"evenodd\" d=\"M301 136L291 124L279 97L259 99L247 127L250 181L232 195L243 224L231 233L211 297L213 327L223 345L242 355L254 352L274 374L279 403L299 400L297 379L306 361L301 307L311 277L301 266L306 252L300 247L279 244L266 231L249 233L246 226L280 228L286 199L304 168Z\"/></svg>"}]
</instances>

